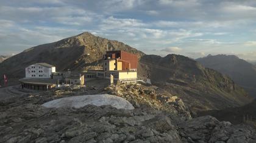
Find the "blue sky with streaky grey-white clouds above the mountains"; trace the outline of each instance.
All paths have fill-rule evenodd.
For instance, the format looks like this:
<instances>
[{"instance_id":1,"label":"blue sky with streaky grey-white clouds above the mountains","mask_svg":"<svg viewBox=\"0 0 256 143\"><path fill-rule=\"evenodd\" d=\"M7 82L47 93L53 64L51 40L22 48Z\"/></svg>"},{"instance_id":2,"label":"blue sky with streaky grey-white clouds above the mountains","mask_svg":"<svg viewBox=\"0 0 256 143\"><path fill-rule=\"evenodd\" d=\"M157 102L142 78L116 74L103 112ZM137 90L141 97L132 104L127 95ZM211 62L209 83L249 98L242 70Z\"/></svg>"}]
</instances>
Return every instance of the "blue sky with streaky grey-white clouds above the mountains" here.
<instances>
[{"instance_id":1,"label":"blue sky with streaky grey-white clouds above the mountains","mask_svg":"<svg viewBox=\"0 0 256 143\"><path fill-rule=\"evenodd\" d=\"M0 0L0 55L82 32L146 54L256 60L256 1Z\"/></svg>"}]
</instances>

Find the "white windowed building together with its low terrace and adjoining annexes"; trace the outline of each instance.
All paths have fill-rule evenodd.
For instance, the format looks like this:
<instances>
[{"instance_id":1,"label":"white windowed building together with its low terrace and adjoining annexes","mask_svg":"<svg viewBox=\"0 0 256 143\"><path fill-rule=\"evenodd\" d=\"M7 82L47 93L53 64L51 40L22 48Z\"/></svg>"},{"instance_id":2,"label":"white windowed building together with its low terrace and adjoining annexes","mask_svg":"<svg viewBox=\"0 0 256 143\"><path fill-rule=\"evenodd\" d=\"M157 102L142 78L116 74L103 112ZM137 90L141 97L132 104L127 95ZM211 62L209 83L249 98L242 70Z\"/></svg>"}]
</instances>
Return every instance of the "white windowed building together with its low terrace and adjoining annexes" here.
<instances>
[{"instance_id":1,"label":"white windowed building together with its low terrace and adjoining annexes","mask_svg":"<svg viewBox=\"0 0 256 143\"><path fill-rule=\"evenodd\" d=\"M55 66L47 63L37 63L25 68L26 76L20 79L22 88L32 90L49 90L52 87L84 85L84 76L68 71L57 72Z\"/></svg>"}]
</instances>

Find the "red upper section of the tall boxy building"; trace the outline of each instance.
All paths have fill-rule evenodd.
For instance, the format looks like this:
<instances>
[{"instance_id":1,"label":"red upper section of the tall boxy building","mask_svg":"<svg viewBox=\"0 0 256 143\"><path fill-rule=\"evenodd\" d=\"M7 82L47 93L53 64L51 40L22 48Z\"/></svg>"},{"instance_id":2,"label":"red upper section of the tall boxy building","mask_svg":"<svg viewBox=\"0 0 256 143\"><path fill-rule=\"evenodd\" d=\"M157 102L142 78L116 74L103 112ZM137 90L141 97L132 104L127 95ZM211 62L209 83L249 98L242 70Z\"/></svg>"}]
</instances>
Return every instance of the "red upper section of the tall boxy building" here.
<instances>
[{"instance_id":1,"label":"red upper section of the tall boxy building","mask_svg":"<svg viewBox=\"0 0 256 143\"><path fill-rule=\"evenodd\" d=\"M138 65L138 57L137 55L123 52L121 50L118 51L107 51L106 59L121 59L122 61L122 69L130 69L130 70L137 70Z\"/></svg>"}]
</instances>

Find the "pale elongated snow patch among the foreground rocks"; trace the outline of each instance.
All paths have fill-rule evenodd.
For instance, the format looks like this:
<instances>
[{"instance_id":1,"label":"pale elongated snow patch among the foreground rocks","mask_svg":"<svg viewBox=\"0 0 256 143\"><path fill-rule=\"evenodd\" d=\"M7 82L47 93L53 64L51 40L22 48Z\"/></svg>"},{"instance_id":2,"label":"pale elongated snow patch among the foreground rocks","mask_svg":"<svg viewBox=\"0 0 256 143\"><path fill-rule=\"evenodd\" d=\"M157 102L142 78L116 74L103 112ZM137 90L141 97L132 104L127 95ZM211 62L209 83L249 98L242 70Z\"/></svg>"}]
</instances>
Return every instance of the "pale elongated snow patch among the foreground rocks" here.
<instances>
[{"instance_id":1,"label":"pale elongated snow patch among the foreground rocks","mask_svg":"<svg viewBox=\"0 0 256 143\"><path fill-rule=\"evenodd\" d=\"M83 95L83 96L71 96L67 98L55 99L43 104L47 108L61 108L61 107L74 107L81 108L85 105L111 105L115 108L123 108L127 110L133 110L134 107L126 99L120 98L115 95Z\"/></svg>"}]
</instances>

